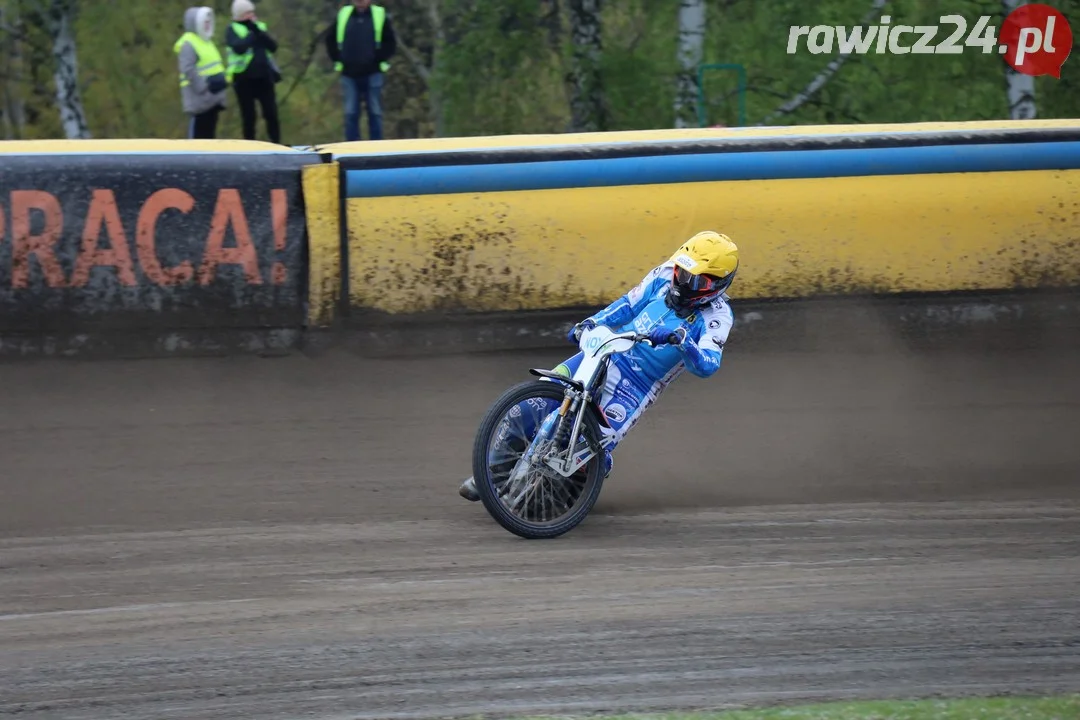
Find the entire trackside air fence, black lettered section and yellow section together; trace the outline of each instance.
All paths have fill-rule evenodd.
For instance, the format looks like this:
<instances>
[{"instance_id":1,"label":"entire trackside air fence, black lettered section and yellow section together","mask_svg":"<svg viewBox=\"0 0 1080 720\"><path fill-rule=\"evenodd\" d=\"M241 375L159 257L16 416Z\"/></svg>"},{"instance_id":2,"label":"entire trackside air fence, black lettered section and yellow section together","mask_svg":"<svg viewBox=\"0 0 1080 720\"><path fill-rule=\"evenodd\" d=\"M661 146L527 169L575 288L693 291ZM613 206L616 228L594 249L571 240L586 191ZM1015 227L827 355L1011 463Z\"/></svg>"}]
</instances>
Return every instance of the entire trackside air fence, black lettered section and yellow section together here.
<instances>
[{"instance_id":1,"label":"entire trackside air fence, black lettered section and yellow section together","mask_svg":"<svg viewBox=\"0 0 1080 720\"><path fill-rule=\"evenodd\" d=\"M737 303L1080 286L1080 120L27 141L0 163L9 354L527 324L703 229L740 245Z\"/></svg>"}]
</instances>

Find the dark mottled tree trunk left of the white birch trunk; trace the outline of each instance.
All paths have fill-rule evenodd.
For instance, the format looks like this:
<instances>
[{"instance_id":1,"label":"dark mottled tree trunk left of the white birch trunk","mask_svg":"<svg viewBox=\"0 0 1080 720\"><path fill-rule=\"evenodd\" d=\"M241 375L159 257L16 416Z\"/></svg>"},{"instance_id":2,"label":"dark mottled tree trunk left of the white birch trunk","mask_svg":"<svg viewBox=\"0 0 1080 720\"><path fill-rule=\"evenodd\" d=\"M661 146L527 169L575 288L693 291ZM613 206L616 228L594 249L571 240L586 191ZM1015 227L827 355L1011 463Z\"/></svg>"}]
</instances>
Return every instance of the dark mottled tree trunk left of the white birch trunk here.
<instances>
[{"instance_id":1,"label":"dark mottled tree trunk left of the white birch trunk","mask_svg":"<svg viewBox=\"0 0 1080 720\"><path fill-rule=\"evenodd\" d=\"M604 83L600 78L600 10L603 0L569 0L570 39L573 42L570 70L570 132L607 130Z\"/></svg>"}]
</instances>

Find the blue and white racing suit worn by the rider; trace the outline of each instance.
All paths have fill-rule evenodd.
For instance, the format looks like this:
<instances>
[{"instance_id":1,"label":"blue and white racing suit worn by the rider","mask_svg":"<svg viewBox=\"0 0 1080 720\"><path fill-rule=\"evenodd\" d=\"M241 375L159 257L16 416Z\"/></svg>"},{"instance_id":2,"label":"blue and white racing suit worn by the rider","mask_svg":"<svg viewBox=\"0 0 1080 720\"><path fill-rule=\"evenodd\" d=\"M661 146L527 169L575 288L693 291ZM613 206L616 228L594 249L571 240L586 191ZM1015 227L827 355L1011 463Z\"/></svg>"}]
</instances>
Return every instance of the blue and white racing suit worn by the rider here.
<instances>
[{"instance_id":1,"label":"blue and white racing suit worn by the rider","mask_svg":"<svg viewBox=\"0 0 1080 720\"><path fill-rule=\"evenodd\" d=\"M650 348L639 343L611 356L607 380L598 398L598 405L611 425L610 430L602 425L607 435L604 449L607 451L608 470L615 447L684 369L689 369L699 378L707 378L720 368L724 344L734 324L728 297L721 295L688 317L678 317L664 302L673 268L672 262L653 268L629 293L591 316L597 325L606 325L616 332L634 330L648 334L659 327L672 331L679 327L686 329L686 338L679 345ZM578 352L558 365L555 371L572 375L582 357L584 355Z\"/></svg>"}]
</instances>

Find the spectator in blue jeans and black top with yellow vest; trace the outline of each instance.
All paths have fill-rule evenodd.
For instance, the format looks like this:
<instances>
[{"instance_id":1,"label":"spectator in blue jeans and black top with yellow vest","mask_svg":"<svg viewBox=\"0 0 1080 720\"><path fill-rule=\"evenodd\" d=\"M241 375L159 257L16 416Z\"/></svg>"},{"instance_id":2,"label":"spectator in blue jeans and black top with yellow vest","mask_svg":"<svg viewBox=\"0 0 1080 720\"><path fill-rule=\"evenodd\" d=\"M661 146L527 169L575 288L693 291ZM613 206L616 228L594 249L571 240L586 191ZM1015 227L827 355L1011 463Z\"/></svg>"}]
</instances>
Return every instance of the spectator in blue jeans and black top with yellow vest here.
<instances>
[{"instance_id":1,"label":"spectator in blue jeans and black top with yellow vest","mask_svg":"<svg viewBox=\"0 0 1080 720\"><path fill-rule=\"evenodd\" d=\"M338 11L326 31L326 54L341 73L345 139L360 139L360 104L367 107L370 139L382 139L382 82L397 49L394 28L382 5L352 0Z\"/></svg>"}]
</instances>

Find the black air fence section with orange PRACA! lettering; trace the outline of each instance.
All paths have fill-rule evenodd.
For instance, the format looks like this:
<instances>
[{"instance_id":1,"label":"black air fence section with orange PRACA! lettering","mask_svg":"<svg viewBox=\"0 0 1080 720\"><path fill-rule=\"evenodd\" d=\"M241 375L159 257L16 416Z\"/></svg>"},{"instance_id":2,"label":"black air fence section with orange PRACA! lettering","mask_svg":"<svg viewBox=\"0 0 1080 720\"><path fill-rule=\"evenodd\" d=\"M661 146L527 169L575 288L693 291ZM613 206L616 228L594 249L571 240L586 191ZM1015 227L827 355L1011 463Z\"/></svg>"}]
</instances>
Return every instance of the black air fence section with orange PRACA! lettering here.
<instances>
[{"instance_id":1,"label":"black air fence section with orange PRACA! lettering","mask_svg":"<svg viewBox=\"0 0 1080 720\"><path fill-rule=\"evenodd\" d=\"M229 140L0 144L3 354L295 344L302 171L325 160Z\"/></svg>"}]
</instances>

